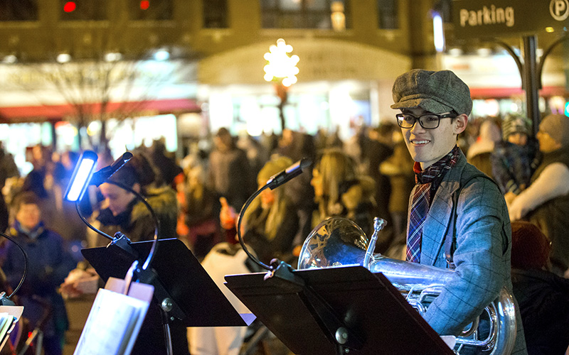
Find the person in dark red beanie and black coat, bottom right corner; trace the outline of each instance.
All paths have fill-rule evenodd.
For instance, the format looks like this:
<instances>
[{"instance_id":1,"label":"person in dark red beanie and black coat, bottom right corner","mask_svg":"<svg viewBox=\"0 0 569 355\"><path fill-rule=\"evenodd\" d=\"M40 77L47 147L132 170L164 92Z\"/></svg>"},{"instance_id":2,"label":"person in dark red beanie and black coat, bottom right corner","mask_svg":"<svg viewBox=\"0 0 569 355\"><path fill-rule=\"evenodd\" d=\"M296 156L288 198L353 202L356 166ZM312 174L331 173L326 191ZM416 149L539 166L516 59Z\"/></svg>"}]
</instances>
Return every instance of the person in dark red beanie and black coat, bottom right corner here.
<instances>
[{"instance_id":1,"label":"person in dark red beanie and black coat, bottom right corner","mask_svg":"<svg viewBox=\"0 0 569 355\"><path fill-rule=\"evenodd\" d=\"M569 346L569 280L548 271L551 242L530 222L511 224L511 280L528 354L565 354Z\"/></svg>"}]
</instances>

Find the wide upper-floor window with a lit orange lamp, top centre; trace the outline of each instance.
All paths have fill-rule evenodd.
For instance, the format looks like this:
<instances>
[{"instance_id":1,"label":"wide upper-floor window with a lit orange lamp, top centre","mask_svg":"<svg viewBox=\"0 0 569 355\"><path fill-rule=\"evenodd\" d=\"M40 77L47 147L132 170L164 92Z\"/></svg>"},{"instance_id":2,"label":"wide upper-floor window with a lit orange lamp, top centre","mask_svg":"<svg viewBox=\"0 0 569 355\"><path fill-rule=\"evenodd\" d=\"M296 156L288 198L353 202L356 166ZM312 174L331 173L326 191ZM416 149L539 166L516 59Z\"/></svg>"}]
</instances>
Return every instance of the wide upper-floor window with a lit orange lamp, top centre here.
<instances>
[{"instance_id":1,"label":"wide upper-floor window with a lit orange lamp, top centre","mask_svg":"<svg viewBox=\"0 0 569 355\"><path fill-rule=\"evenodd\" d=\"M349 1L337 0L260 0L263 28L332 29L333 4L344 5L346 28L350 27ZM334 9L339 9L334 4ZM340 6L341 9L341 6ZM334 10L336 11L336 10ZM336 11L337 12L337 11ZM334 13L337 16L337 13Z\"/></svg>"}]
</instances>

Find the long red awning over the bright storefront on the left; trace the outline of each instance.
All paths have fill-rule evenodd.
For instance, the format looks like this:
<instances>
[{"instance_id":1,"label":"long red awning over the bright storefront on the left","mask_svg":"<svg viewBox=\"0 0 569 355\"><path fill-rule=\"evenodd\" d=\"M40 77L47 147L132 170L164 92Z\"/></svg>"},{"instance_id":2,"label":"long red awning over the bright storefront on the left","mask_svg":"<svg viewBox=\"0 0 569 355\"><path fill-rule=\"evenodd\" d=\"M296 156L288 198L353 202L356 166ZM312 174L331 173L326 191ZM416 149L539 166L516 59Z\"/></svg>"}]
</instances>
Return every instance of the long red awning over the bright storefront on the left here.
<instances>
[{"instance_id":1,"label":"long red awning over the bright storefront on the left","mask_svg":"<svg viewBox=\"0 0 569 355\"><path fill-rule=\"evenodd\" d=\"M77 116L81 109L85 114L96 115L102 111L101 104L82 104L75 107L65 105L43 105L23 107L0 107L0 121L4 123L29 121L58 121ZM197 102L192 99L164 99L139 102L109 102L104 109L110 116L113 112L137 116L149 114L176 114L201 112Z\"/></svg>"}]
</instances>

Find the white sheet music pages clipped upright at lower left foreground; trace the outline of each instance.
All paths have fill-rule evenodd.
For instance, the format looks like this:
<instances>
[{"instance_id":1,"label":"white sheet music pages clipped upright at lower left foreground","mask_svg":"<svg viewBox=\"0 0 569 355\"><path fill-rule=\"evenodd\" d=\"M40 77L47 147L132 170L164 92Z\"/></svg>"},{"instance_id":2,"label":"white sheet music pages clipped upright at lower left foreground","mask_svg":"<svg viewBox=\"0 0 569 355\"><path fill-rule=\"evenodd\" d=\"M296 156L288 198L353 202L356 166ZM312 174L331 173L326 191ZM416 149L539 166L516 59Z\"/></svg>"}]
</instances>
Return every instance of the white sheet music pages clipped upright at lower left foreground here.
<instances>
[{"instance_id":1,"label":"white sheet music pages clipped upright at lower left foreground","mask_svg":"<svg viewBox=\"0 0 569 355\"><path fill-rule=\"evenodd\" d=\"M148 305L134 297L100 289L73 354L129 354L129 340L138 335Z\"/></svg>"}]
</instances>

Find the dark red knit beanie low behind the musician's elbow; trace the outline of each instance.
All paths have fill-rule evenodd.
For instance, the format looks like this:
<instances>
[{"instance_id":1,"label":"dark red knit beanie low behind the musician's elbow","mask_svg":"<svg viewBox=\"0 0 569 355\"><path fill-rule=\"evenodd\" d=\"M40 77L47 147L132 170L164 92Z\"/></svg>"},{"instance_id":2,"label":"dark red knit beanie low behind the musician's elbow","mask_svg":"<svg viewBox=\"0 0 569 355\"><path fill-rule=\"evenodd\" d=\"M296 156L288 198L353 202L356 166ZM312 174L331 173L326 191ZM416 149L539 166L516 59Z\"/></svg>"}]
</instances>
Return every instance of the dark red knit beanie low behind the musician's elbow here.
<instances>
[{"instance_id":1,"label":"dark red knit beanie low behind the musician's elbow","mask_svg":"<svg viewBox=\"0 0 569 355\"><path fill-rule=\"evenodd\" d=\"M546 266L551 242L535 224L515 221L511 224L511 267L541 269Z\"/></svg>"}]
</instances>

